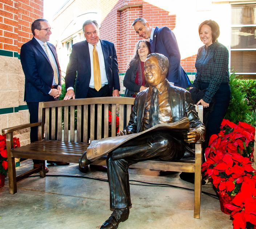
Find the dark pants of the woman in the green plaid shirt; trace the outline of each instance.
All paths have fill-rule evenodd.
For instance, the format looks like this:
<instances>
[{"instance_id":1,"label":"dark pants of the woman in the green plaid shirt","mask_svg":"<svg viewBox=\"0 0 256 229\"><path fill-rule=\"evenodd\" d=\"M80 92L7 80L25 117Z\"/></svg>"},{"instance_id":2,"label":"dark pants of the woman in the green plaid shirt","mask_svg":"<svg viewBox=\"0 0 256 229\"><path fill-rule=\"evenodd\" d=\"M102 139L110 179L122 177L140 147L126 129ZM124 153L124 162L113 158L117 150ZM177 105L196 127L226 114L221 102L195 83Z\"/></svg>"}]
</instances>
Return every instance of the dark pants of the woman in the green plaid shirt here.
<instances>
[{"instance_id":1,"label":"dark pants of the woman in the green plaid shirt","mask_svg":"<svg viewBox=\"0 0 256 229\"><path fill-rule=\"evenodd\" d=\"M206 89L209 83L198 82L199 90ZM219 90L214 95L215 105L214 110L209 115L209 120L206 126L206 139L204 142L204 148L208 147L208 142L213 134L219 134L220 124L228 109L229 101L231 97L231 90L228 83L220 84Z\"/></svg>"}]
</instances>

